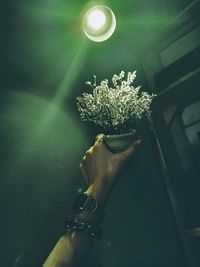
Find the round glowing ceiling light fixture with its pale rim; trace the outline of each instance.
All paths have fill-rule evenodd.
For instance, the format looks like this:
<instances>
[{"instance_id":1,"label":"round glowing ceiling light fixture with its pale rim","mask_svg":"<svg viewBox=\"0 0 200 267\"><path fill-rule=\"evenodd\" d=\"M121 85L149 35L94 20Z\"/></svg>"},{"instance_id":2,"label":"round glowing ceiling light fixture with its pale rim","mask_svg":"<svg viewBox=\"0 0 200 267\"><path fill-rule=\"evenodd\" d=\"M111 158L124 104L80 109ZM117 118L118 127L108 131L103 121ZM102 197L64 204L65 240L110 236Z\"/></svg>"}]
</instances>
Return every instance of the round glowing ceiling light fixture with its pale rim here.
<instances>
[{"instance_id":1,"label":"round glowing ceiling light fixture with its pale rim","mask_svg":"<svg viewBox=\"0 0 200 267\"><path fill-rule=\"evenodd\" d=\"M111 37L116 28L113 11L106 6L95 6L83 19L83 31L94 42L103 42Z\"/></svg>"}]
</instances>

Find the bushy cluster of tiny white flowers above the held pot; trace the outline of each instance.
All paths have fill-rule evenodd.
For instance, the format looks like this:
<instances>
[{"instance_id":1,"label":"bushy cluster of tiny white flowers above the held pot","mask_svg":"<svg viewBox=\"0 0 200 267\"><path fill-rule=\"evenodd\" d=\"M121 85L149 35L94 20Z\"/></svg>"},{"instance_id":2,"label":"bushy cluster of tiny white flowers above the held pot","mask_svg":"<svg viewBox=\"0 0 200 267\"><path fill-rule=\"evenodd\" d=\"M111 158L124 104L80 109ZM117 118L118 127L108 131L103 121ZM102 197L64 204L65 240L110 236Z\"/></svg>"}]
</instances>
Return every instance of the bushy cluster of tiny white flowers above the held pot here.
<instances>
[{"instance_id":1,"label":"bushy cluster of tiny white flowers above the held pot","mask_svg":"<svg viewBox=\"0 0 200 267\"><path fill-rule=\"evenodd\" d=\"M83 93L77 97L77 106L83 121L93 122L106 132L122 133L130 131L130 128L151 114L150 105L154 94L141 91L141 86L132 85L136 78L136 71L114 74L113 87L109 86L107 79L100 85L87 81L92 87L91 93Z\"/></svg>"}]
</instances>

